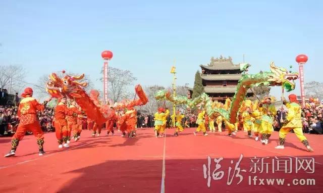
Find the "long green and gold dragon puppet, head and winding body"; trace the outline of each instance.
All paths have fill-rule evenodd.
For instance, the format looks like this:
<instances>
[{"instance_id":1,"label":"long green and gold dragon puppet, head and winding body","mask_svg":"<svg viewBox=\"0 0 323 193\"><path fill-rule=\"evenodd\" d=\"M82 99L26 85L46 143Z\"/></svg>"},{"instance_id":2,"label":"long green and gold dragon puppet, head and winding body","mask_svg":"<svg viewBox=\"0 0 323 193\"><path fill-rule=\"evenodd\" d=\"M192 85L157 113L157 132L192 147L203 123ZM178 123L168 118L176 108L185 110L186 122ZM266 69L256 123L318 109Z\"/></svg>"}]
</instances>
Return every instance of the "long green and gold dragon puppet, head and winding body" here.
<instances>
[{"instance_id":1,"label":"long green and gold dragon puppet, head and winding body","mask_svg":"<svg viewBox=\"0 0 323 193\"><path fill-rule=\"evenodd\" d=\"M210 117L222 116L227 123L236 123L238 112L241 108L242 102L245 100L247 90L253 86L269 85L269 86L283 86L287 91L295 89L294 80L298 78L298 73L288 73L284 68L276 67L274 62L270 64L270 72L260 72L257 74L243 74L242 78L236 88L233 100L229 102L226 100L225 105L219 105L217 102L212 102L206 93L202 93L194 100L188 99L185 96L172 96L170 92L159 90L155 94L155 99L168 100L173 104L185 104L187 107L195 107L202 103L206 113Z\"/></svg>"}]
</instances>

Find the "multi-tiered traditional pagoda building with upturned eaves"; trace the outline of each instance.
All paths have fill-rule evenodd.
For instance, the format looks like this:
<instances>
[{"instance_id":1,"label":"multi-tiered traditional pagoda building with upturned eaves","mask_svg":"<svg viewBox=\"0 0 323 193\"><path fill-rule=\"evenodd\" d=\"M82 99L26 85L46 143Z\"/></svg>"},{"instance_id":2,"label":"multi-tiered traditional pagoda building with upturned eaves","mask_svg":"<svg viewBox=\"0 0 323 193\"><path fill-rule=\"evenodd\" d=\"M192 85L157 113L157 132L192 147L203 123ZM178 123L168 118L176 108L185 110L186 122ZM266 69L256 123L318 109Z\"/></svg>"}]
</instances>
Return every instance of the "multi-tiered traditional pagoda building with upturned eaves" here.
<instances>
[{"instance_id":1,"label":"multi-tiered traditional pagoda building with upturned eaves","mask_svg":"<svg viewBox=\"0 0 323 193\"><path fill-rule=\"evenodd\" d=\"M247 64L250 66L249 64ZM201 78L204 91L213 100L224 102L226 98L233 98L238 81L242 77L242 73L248 68L245 64L235 65L232 58L213 58L207 65L200 65ZM247 91L247 98L253 96L252 91Z\"/></svg>"}]
</instances>

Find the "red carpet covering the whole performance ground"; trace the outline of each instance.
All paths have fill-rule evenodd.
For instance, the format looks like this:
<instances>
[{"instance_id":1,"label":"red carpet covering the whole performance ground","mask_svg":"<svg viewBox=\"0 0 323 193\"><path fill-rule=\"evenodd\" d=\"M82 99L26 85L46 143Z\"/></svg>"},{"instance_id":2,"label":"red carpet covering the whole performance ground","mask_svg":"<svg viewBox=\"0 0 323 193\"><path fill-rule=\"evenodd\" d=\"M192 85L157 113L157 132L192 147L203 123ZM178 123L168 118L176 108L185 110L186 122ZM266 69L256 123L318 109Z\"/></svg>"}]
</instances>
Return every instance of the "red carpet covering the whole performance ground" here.
<instances>
[{"instance_id":1,"label":"red carpet covering the whole performance ground","mask_svg":"<svg viewBox=\"0 0 323 193\"><path fill-rule=\"evenodd\" d=\"M62 150L58 149L55 133L47 133L44 146L47 154L42 157L38 156L35 138L28 135L20 141L15 157L4 158L10 150L11 140L0 138L0 192L160 192L164 189L164 157L165 192L321 192L323 188L321 135L306 135L315 150L309 153L294 133L287 135L285 150L276 150L277 132L272 135L270 143L263 146L242 131L237 136L228 137L225 135L227 132L194 136L193 130L186 129L174 137L174 130L168 129L166 138L155 138L152 129L138 129L138 136L133 139L123 138L119 132L115 136L105 136L104 130L100 137L91 137L89 131L83 130L81 140L71 142L69 149ZM242 181L237 184L240 178L235 166L241 154L243 158L238 169L240 167L246 172L240 171ZM211 158L209 175L207 156ZM262 164L268 166L268 172L265 167L262 173L250 171L252 161L258 161L256 165L261 166L260 159L251 160L255 156L268 157ZM307 161L310 165L310 160L301 159L304 157L315 160L314 173L311 173L313 168L306 164ZM223 158L217 171L214 171L214 158ZM205 176L203 164L206 165ZM296 166L299 169L297 173ZM219 174L214 178L222 178L214 180L213 171ZM256 185L254 176L257 176ZM277 185L277 181L274 185L267 185L266 180L271 181L272 178L284 179L284 185ZM294 185L293 179L299 183L314 179L315 185ZM232 183L228 185L228 181ZM308 183L313 181L308 180Z\"/></svg>"}]
</instances>

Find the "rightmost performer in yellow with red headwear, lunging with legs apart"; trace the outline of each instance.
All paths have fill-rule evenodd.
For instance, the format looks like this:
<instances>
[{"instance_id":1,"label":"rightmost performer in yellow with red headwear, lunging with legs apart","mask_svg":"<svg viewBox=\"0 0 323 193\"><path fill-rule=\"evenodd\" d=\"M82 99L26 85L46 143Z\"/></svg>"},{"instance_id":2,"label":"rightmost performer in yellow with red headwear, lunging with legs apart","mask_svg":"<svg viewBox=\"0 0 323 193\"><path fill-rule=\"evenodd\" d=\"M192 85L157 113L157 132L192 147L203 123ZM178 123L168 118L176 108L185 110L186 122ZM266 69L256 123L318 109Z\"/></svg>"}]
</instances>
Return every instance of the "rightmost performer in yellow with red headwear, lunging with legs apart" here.
<instances>
[{"instance_id":1,"label":"rightmost performer in yellow with red headwear, lunging with legs apart","mask_svg":"<svg viewBox=\"0 0 323 193\"><path fill-rule=\"evenodd\" d=\"M276 149L284 149L285 137L287 133L293 130L297 138L304 144L307 151L313 152L313 149L309 146L309 142L303 134L301 121L302 109L301 106L298 104L296 95L290 94L288 98L290 103L287 103L284 99L282 99L283 103L288 109L288 113L285 120L285 124L279 130L279 145L276 147Z\"/></svg>"}]
</instances>

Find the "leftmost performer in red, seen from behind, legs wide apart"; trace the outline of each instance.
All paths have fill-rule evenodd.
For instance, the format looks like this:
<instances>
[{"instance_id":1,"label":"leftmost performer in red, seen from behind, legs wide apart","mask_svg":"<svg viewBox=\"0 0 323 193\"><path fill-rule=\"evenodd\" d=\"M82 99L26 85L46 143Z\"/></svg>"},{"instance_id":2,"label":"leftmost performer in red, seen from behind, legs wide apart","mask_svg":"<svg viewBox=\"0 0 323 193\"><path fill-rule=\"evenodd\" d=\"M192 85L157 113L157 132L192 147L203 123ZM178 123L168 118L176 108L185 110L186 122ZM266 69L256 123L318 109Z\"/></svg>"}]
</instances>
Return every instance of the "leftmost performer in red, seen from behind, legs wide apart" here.
<instances>
[{"instance_id":1,"label":"leftmost performer in red, seen from behind, legs wide apart","mask_svg":"<svg viewBox=\"0 0 323 193\"><path fill-rule=\"evenodd\" d=\"M19 141L25 136L26 131L32 131L37 138L39 156L45 153L43 150L44 134L37 119L37 111L43 111L47 102L44 102L44 105L39 104L36 99L32 98L32 94L33 90L29 87L25 88L24 93L21 94L24 99L21 100L18 107L20 122L11 140L11 151L5 157L16 155Z\"/></svg>"}]
</instances>

